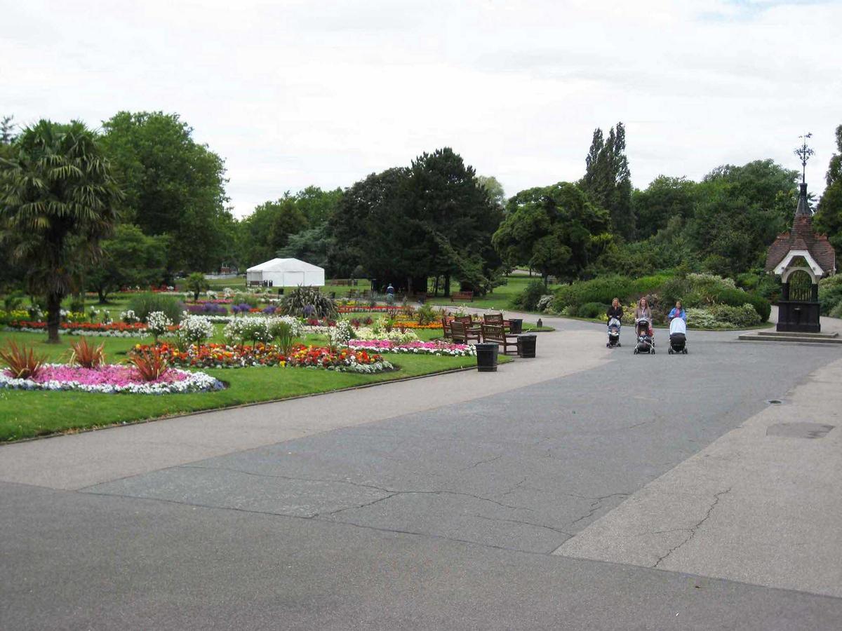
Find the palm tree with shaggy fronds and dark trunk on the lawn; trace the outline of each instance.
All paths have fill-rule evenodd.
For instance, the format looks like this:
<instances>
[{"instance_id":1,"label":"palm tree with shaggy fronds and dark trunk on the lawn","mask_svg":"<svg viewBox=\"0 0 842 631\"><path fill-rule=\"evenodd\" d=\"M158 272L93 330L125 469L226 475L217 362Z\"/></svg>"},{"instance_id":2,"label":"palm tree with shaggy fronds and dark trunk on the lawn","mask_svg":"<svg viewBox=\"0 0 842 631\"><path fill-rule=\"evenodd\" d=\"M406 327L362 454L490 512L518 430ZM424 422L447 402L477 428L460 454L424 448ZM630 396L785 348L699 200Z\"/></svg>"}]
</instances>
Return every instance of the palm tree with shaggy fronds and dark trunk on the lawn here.
<instances>
[{"instance_id":1,"label":"palm tree with shaggy fronds and dark trunk on the lawn","mask_svg":"<svg viewBox=\"0 0 842 631\"><path fill-rule=\"evenodd\" d=\"M40 120L0 160L0 245L44 296L48 342L58 342L61 300L74 275L99 257L122 199L97 136L79 121Z\"/></svg>"}]
</instances>

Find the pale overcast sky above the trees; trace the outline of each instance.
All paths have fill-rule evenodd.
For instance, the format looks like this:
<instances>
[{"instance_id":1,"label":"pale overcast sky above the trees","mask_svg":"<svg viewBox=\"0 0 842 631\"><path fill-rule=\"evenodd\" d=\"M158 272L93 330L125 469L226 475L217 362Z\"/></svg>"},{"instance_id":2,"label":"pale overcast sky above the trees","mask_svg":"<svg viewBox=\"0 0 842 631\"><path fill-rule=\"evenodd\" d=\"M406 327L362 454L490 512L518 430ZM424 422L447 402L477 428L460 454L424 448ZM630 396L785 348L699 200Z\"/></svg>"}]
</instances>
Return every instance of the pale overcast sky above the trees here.
<instances>
[{"instance_id":1,"label":"pale overcast sky above the trees","mask_svg":"<svg viewBox=\"0 0 842 631\"><path fill-rule=\"evenodd\" d=\"M0 114L174 112L235 215L450 146L506 194L584 173L622 121L632 182L702 178L842 124L842 0L0 0Z\"/></svg>"}]
</instances>

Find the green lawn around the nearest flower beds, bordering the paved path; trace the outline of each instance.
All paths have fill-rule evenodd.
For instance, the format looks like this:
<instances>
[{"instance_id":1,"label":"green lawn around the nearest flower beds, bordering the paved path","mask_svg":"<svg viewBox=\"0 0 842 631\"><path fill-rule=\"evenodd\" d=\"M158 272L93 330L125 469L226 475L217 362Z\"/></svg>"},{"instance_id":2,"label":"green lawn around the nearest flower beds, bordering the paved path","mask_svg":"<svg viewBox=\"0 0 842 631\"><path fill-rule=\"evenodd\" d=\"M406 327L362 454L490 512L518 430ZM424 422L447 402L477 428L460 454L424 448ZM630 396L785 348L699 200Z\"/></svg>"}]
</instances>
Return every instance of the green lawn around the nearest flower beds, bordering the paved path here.
<instances>
[{"instance_id":1,"label":"green lawn around the nearest flower beds, bordering the paved path","mask_svg":"<svg viewBox=\"0 0 842 631\"><path fill-rule=\"evenodd\" d=\"M219 336L221 326L217 326ZM423 331L425 334L434 331ZM439 331L440 335L440 331ZM424 335L427 338L427 335ZM430 336L433 337L433 336ZM0 344L14 340L35 347L51 361L64 361L67 349L77 337L61 336L60 345L44 342L41 333L0 333ZM149 342L150 338L146 338ZM316 336L305 342L318 342ZM141 340L129 337L93 337L104 342L109 363L125 359L126 351ZM101 395L87 392L45 392L0 389L0 441L13 441L53 432L104 427L184 412L212 410L257 401L329 392L357 385L476 366L476 358L407 356L387 354L398 369L381 374L336 373L317 369L206 369L228 384L226 390L188 395ZM500 358L501 362L510 358ZM418 387L424 387L418 385ZM313 401L314 409L317 401Z\"/></svg>"}]
</instances>

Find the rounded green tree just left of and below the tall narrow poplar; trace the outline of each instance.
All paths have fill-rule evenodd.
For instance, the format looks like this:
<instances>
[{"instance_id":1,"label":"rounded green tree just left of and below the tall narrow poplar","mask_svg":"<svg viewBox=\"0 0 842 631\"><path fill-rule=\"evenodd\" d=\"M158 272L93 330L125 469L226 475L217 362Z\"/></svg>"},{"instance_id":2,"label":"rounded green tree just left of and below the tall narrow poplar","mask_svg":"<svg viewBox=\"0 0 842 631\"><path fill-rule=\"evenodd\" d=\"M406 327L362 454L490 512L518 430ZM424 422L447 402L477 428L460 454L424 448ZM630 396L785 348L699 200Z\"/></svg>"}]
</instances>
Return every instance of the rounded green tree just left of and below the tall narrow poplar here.
<instances>
[{"instance_id":1,"label":"rounded green tree just left of and below the tall narrow poplar","mask_svg":"<svg viewBox=\"0 0 842 631\"><path fill-rule=\"evenodd\" d=\"M551 274L578 278L610 241L608 212L567 182L514 195L493 236L504 261L535 268L545 284Z\"/></svg>"}]
</instances>

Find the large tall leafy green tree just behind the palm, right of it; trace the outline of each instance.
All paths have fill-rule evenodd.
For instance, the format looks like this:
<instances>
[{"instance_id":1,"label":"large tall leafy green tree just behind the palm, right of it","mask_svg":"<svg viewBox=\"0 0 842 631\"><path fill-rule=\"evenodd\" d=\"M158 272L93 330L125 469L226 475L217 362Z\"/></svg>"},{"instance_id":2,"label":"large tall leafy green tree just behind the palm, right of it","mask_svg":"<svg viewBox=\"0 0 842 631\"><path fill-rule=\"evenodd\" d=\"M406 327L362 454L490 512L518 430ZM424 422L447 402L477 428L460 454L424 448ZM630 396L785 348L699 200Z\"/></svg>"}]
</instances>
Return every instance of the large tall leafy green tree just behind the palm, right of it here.
<instances>
[{"instance_id":1,"label":"large tall leafy green tree just behind the palm, right of it","mask_svg":"<svg viewBox=\"0 0 842 631\"><path fill-rule=\"evenodd\" d=\"M125 189L126 220L170 237L168 274L218 267L232 241L222 158L195 142L178 114L120 112L103 129Z\"/></svg>"}]
</instances>

